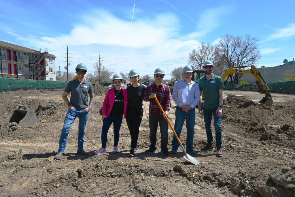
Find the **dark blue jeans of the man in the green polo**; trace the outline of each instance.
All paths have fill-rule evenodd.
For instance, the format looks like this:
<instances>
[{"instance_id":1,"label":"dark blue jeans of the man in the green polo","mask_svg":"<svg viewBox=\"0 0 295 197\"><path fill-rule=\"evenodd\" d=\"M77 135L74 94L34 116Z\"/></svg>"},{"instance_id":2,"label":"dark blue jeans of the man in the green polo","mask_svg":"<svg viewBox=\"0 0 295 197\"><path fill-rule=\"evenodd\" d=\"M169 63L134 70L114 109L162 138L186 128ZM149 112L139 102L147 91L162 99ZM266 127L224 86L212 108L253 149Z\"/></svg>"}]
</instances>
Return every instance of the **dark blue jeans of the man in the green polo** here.
<instances>
[{"instance_id":1,"label":"dark blue jeans of the man in the green polo","mask_svg":"<svg viewBox=\"0 0 295 197\"><path fill-rule=\"evenodd\" d=\"M211 128L212 113L214 118L214 127L215 127L215 138L216 138L216 147L222 147L222 131L221 131L221 116L217 117L216 114L217 108L210 110L203 110L204 113L204 122L207 134L207 142L213 143L213 134Z\"/></svg>"}]
</instances>

